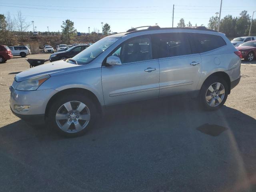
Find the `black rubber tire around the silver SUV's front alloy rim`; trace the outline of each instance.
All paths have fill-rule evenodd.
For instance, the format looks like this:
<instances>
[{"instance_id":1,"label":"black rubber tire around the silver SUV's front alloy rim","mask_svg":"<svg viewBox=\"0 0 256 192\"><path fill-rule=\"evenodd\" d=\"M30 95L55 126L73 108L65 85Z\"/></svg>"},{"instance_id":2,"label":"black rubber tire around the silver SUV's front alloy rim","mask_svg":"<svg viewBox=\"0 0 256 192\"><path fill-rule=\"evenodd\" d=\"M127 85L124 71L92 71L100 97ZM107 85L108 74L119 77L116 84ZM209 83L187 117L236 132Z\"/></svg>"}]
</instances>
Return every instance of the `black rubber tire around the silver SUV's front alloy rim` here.
<instances>
[{"instance_id":1,"label":"black rubber tire around the silver SUV's front alloy rim","mask_svg":"<svg viewBox=\"0 0 256 192\"><path fill-rule=\"evenodd\" d=\"M58 112L60 107L63 104L65 104L66 102L70 102L70 101L82 102L90 110L89 123L87 124L87 126L84 129L80 130L79 132L65 132L58 126L58 124L56 122L56 113ZM93 126L93 124L98 116L98 113L97 113L97 108L96 108L94 102L90 98L88 98L84 95L82 96L79 93L77 93L77 94L73 93L73 94L67 94L65 96L59 97L56 100L54 100L47 116L48 116L48 118L46 119L46 122L48 123L50 128L54 128L62 136L76 137L76 136L84 135ZM66 122L68 122L68 120L66 120ZM73 123L72 123L72 125L74 126ZM70 131L70 130L68 130L68 131ZM76 130L74 130L74 131L76 131Z\"/></svg>"}]
</instances>

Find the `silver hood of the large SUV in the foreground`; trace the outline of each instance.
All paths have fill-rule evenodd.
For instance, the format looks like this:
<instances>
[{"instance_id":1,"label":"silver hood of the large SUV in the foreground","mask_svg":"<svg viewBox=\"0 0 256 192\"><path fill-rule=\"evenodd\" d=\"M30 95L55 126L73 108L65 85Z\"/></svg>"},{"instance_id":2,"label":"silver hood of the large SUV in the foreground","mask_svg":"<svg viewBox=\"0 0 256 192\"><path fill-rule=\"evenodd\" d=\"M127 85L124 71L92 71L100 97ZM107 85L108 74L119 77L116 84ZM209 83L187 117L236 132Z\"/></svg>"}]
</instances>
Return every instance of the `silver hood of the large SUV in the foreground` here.
<instances>
[{"instance_id":1,"label":"silver hood of the large SUV in the foreground","mask_svg":"<svg viewBox=\"0 0 256 192\"><path fill-rule=\"evenodd\" d=\"M58 72L62 72L64 70L65 71L72 70L78 66L81 66L81 65L71 64L63 60L60 60L52 63L42 64L42 65L30 68L26 71L22 71L16 74L15 80L20 82L20 81L23 81L32 77L36 77L36 76L41 76L44 74L50 74L52 76L53 74L56 74Z\"/></svg>"}]
</instances>

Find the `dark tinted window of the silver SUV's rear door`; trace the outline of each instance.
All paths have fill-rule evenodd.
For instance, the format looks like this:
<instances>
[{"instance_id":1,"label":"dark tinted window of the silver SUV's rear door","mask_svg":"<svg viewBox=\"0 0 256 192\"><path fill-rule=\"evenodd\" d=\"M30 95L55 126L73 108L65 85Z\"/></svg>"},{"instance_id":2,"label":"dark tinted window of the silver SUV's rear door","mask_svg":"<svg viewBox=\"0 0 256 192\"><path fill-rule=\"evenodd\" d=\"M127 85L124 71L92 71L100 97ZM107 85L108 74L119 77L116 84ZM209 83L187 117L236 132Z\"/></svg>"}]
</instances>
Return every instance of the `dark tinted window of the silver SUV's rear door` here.
<instances>
[{"instance_id":1,"label":"dark tinted window of the silver SUV's rear door","mask_svg":"<svg viewBox=\"0 0 256 192\"><path fill-rule=\"evenodd\" d=\"M158 58L191 54L185 33L164 33L152 35Z\"/></svg>"}]
</instances>

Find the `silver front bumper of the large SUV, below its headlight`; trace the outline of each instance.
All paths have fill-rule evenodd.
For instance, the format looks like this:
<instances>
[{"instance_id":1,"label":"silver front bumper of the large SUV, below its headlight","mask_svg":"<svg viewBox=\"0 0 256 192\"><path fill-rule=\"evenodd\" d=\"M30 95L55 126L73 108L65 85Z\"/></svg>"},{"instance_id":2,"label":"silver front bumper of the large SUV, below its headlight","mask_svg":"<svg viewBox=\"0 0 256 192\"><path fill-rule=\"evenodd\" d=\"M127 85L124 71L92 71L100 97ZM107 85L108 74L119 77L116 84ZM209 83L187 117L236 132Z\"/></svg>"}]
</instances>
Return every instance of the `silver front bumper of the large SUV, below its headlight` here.
<instances>
[{"instance_id":1,"label":"silver front bumper of the large SUV, below its headlight","mask_svg":"<svg viewBox=\"0 0 256 192\"><path fill-rule=\"evenodd\" d=\"M35 91L18 91L10 87L10 107L18 117L28 115L42 115L45 113L46 105L50 98L58 91L54 89L35 90ZM30 105L28 111L16 111L14 105Z\"/></svg>"}]
</instances>

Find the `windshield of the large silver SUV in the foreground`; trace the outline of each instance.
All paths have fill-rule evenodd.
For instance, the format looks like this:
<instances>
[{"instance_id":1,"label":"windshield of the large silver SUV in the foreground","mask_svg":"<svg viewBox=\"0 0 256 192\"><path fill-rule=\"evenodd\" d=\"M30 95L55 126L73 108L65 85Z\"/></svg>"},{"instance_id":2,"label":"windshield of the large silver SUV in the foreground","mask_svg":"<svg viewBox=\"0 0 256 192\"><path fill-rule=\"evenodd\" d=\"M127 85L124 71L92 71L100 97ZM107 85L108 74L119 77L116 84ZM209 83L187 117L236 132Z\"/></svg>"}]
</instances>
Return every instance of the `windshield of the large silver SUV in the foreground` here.
<instances>
[{"instance_id":1,"label":"windshield of the large silver SUV in the foreground","mask_svg":"<svg viewBox=\"0 0 256 192\"><path fill-rule=\"evenodd\" d=\"M103 38L73 57L79 65L88 64L109 48L119 38Z\"/></svg>"}]
</instances>

